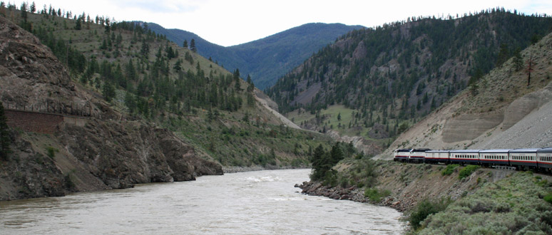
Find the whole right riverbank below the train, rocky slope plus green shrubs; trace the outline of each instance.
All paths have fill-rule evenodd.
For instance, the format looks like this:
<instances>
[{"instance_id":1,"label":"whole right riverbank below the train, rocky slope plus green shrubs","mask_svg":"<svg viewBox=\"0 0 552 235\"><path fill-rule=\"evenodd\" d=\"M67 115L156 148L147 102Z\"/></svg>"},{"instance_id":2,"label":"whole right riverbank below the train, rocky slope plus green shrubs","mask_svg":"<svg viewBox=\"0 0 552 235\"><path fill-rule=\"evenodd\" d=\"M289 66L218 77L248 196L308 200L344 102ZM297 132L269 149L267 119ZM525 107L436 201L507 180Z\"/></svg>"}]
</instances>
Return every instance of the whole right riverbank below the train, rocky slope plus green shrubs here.
<instances>
[{"instance_id":1,"label":"whole right riverbank below the train, rocky slope plus green shrubs","mask_svg":"<svg viewBox=\"0 0 552 235\"><path fill-rule=\"evenodd\" d=\"M331 159L327 157L332 152L336 152L335 146L324 153L325 159ZM315 167L317 160L312 161ZM332 198L405 211L404 219L411 226L408 234L552 232L552 177L532 172L404 164L356 155L329 168L313 168L311 179L313 182L301 186L303 192L327 197L338 194Z\"/></svg>"}]
</instances>

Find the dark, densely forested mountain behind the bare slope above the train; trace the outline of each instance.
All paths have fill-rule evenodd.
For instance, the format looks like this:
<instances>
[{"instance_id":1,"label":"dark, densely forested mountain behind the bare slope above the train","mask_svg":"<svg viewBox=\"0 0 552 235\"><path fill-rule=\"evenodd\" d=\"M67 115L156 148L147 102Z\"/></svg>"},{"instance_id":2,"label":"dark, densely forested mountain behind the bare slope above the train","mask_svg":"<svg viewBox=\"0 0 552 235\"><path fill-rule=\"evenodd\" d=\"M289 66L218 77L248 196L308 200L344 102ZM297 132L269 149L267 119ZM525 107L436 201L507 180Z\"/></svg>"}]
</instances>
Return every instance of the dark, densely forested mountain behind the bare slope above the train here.
<instances>
[{"instance_id":1,"label":"dark, densely forested mountain behind the bare slope above the train","mask_svg":"<svg viewBox=\"0 0 552 235\"><path fill-rule=\"evenodd\" d=\"M267 94L301 127L362 136L380 146L377 154L551 30L550 17L504 9L364 28L322 48Z\"/></svg>"}]
</instances>

